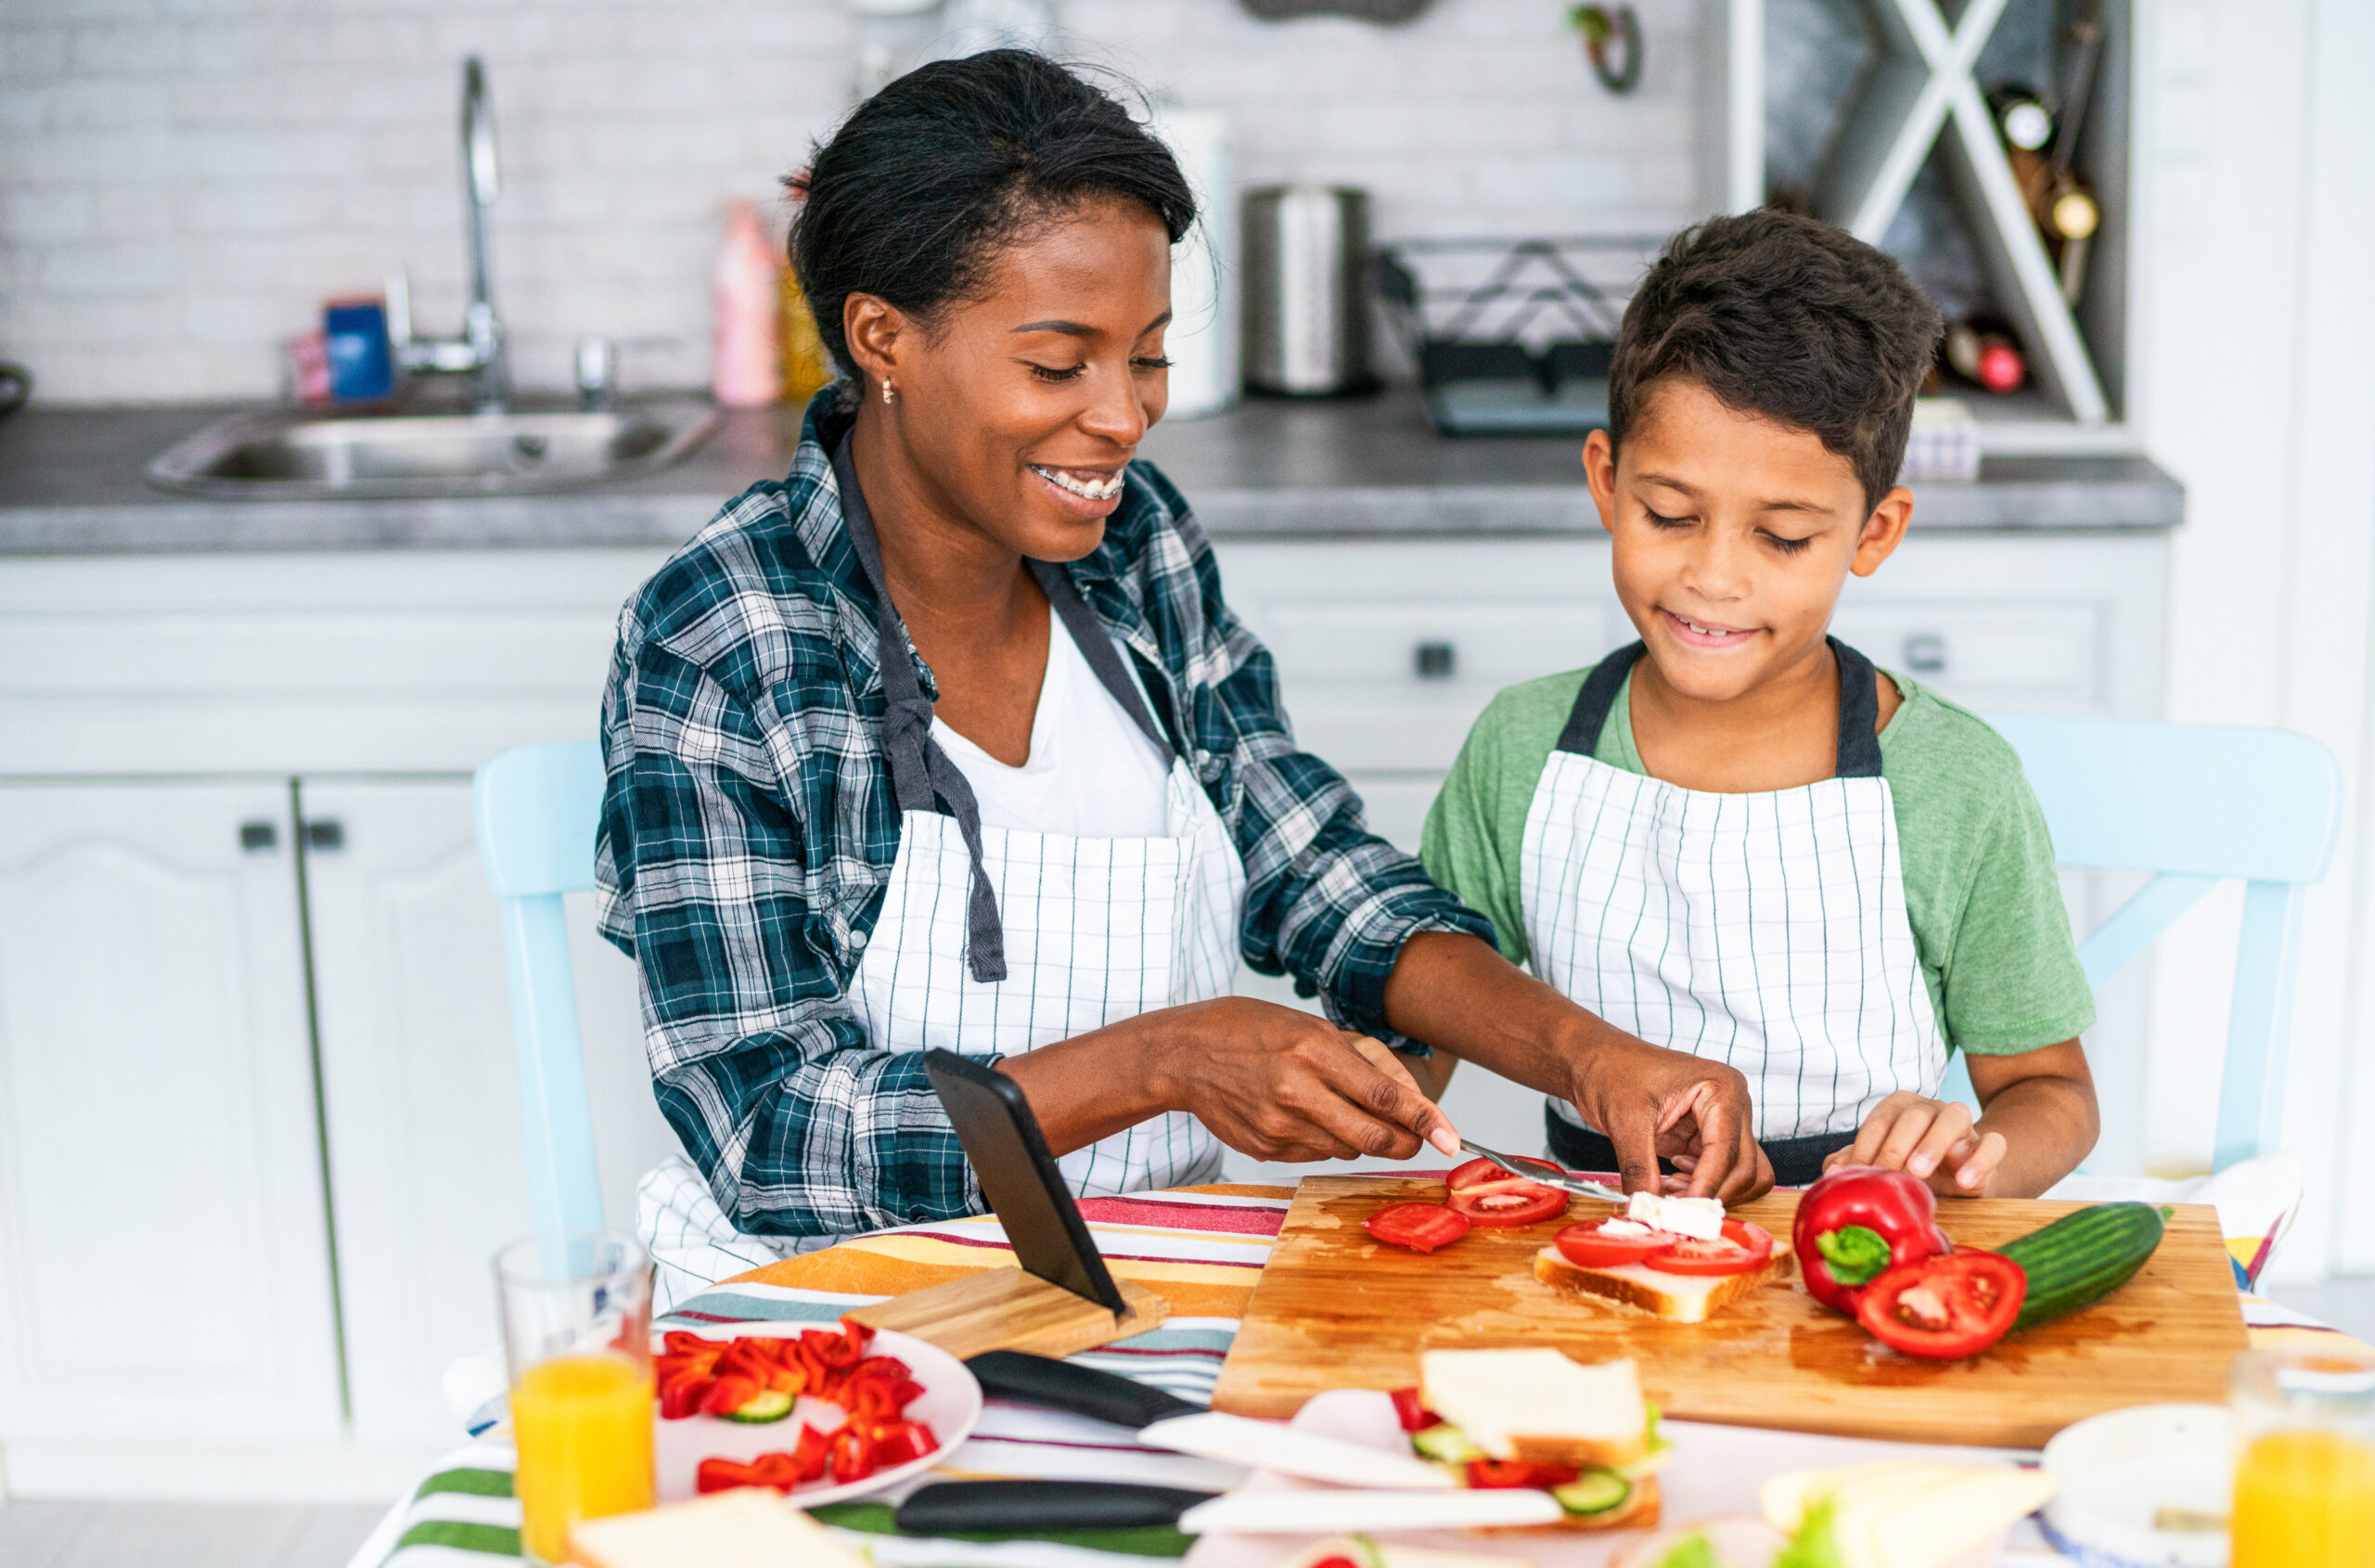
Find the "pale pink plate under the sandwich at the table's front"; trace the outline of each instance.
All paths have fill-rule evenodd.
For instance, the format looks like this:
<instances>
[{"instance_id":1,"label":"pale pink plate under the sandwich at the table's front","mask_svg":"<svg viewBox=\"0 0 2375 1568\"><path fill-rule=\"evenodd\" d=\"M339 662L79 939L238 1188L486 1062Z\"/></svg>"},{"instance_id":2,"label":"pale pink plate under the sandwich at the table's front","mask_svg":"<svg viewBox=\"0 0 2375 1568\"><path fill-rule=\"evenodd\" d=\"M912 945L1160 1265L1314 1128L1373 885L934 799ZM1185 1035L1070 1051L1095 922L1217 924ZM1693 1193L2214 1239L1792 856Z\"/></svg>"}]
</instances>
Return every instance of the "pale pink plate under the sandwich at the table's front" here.
<instances>
[{"instance_id":1,"label":"pale pink plate under the sandwich at the table's front","mask_svg":"<svg viewBox=\"0 0 2375 1568\"><path fill-rule=\"evenodd\" d=\"M1299 1433L1325 1433L1328 1437L1361 1442L1387 1454L1411 1452L1411 1440L1404 1437L1401 1423L1394 1418L1392 1397L1368 1387L1337 1387L1316 1395L1297 1411L1292 1425ZM1758 1487L1765 1485L1767 1475L1779 1475L1781 1471L1848 1466L1869 1459L1938 1459L1943 1463L2009 1463L2014 1459L2004 1449L1814 1437L1807 1433L1767 1433L1748 1425L1708 1425L1700 1421L1667 1421L1660 1430L1674 1442L1674 1456L1658 1471L1658 1492L1662 1497L1660 1525L1679 1525L1720 1513L1755 1513ZM1299 1487L1304 1482L1256 1471L1244 1485L1247 1490L1271 1490ZM2026 1530L2028 1525L2019 1525L2014 1535ZM1442 1551L1520 1558L1534 1563L1534 1568L1608 1568L1617 1551L1646 1539L1646 1530L1563 1528L1520 1532L1413 1530L1408 1535L1396 1532L1394 1539ZM1278 1563L1285 1563L1313 1539L1323 1537L1202 1535L1188 1549L1183 1568L1278 1568ZM1986 1556L1978 1561L1986 1561ZM2016 1558L2007 1551L1997 1561L2035 1558Z\"/></svg>"}]
</instances>

